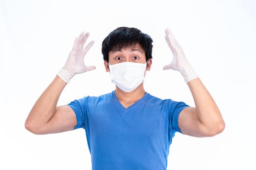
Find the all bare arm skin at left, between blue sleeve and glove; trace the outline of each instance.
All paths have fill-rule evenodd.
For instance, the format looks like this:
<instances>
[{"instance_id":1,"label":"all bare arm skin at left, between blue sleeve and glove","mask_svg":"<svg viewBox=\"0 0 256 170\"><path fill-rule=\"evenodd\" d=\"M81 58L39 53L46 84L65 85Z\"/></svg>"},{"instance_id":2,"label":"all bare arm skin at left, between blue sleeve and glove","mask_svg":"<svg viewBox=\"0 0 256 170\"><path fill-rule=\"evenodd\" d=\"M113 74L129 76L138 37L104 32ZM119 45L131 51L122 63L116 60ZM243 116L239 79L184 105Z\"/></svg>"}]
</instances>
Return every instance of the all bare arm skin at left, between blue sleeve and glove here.
<instances>
[{"instance_id":1,"label":"all bare arm skin at left, between blue sleeve and glove","mask_svg":"<svg viewBox=\"0 0 256 170\"><path fill-rule=\"evenodd\" d=\"M57 102L66 83L56 76L31 109L25 128L34 134L60 133L74 129L77 124L74 111Z\"/></svg>"}]
</instances>

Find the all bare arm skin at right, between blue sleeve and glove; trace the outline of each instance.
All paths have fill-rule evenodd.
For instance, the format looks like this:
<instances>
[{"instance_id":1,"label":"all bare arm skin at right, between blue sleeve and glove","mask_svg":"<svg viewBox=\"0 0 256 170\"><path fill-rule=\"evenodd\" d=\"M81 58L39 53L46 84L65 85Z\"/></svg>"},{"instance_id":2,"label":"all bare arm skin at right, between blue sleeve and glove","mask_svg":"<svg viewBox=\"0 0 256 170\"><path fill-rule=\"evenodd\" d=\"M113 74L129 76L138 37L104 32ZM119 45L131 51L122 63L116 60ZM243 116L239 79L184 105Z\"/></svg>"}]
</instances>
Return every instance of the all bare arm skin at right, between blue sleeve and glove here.
<instances>
[{"instance_id":1,"label":"all bare arm skin at right, between blue sleeve and glove","mask_svg":"<svg viewBox=\"0 0 256 170\"><path fill-rule=\"evenodd\" d=\"M221 133L225 122L212 96L199 78L188 82L194 107L183 109L178 124L181 132L195 137L209 137Z\"/></svg>"}]
</instances>

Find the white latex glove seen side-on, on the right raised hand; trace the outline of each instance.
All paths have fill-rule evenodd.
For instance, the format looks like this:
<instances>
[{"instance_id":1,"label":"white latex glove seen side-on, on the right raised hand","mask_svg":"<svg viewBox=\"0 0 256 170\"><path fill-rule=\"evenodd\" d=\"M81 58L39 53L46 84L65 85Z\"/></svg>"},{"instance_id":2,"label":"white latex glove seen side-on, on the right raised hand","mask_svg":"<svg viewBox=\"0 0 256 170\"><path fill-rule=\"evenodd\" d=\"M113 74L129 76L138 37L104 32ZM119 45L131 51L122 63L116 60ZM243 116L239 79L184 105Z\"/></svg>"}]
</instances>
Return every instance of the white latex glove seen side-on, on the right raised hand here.
<instances>
[{"instance_id":1,"label":"white latex glove seen side-on, on the right raised hand","mask_svg":"<svg viewBox=\"0 0 256 170\"><path fill-rule=\"evenodd\" d=\"M163 69L164 70L173 69L173 70L179 71L182 74L186 83L188 83L192 79L197 78L198 77L197 74L195 73L190 63L188 62L182 47L178 44L178 42L174 38L170 28L167 28L165 30L165 33L166 33L165 39L168 46L171 49L173 58L171 63L169 65L164 66Z\"/></svg>"}]
</instances>

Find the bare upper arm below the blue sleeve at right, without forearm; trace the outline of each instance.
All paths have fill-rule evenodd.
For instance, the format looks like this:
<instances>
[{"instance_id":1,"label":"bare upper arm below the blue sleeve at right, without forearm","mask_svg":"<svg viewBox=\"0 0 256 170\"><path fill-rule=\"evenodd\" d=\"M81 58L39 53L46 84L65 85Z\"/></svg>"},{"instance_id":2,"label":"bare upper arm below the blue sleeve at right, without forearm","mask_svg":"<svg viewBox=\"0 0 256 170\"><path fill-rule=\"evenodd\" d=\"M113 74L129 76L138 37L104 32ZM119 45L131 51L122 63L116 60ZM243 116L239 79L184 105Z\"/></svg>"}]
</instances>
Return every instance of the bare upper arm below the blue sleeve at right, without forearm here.
<instances>
[{"instance_id":1,"label":"bare upper arm below the blue sleeve at right, without forearm","mask_svg":"<svg viewBox=\"0 0 256 170\"><path fill-rule=\"evenodd\" d=\"M185 135L195 137L209 136L206 127L198 119L194 107L186 107L180 112L178 125L181 132Z\"/></svg>"}]
</instances>

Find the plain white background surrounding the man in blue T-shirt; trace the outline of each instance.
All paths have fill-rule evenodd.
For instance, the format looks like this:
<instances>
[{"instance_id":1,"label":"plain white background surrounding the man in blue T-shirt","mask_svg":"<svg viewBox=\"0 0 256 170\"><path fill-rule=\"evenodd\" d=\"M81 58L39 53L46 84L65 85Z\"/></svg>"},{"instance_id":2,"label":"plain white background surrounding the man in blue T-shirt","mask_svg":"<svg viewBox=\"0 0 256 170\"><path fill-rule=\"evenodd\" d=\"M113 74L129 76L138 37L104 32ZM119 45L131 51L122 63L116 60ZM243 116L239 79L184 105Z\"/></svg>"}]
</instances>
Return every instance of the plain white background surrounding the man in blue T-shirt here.
<instances>
[{"instance_id":1,"label":"plain white background surrounding the man in blue T-shirt","mask_svg":"<svg viewBox=\"0 0 256 170\"><path fill-rule=\"evenodd\" d=\"M128 26L154 41L147 92L194 105L182 76L162 70L172 58L170 27L226 122L214 137L177 133L168 170L255 170L255 9L254 0L0 0L0 169L90 170L83 129L40 136L24 122L81 31L95 40L85 63L96 70L75 76L58 104L112 91L101 43Z\"/></svg>"}]
</instances>

